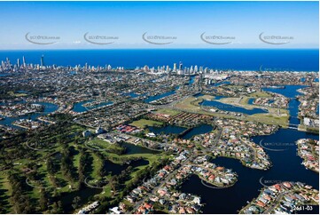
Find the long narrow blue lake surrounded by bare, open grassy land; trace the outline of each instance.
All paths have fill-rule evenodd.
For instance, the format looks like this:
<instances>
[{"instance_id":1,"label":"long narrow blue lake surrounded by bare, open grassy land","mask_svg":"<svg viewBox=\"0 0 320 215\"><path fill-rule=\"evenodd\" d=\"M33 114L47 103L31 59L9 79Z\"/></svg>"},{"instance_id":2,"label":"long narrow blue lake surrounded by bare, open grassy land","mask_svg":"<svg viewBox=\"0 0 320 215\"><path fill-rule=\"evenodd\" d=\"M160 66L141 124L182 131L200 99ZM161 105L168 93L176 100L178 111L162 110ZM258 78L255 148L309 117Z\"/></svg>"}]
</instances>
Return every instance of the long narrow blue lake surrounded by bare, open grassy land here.
<instances>
[{"instance_id":1,"label":"long narrow blue lake surrounded by bare, open grassy land","mask_svg":"<svg viewBox=\"0 0 320 215\"><path fill-rule=\"evenodd\" d=\"M216 101L216 100L204 100L199 104L203 105L203 106L215 107L215 108L218 108L218 109L224 110L224 111L243 113L246 115L268 113L268 111L265 109L253 108L253 109L249 110L246 108L241 108L241 107L237 107L237 106L233 106L233 105L229 105L229 104L224 104L224 103Z\"/></svg>"}]
</instances>

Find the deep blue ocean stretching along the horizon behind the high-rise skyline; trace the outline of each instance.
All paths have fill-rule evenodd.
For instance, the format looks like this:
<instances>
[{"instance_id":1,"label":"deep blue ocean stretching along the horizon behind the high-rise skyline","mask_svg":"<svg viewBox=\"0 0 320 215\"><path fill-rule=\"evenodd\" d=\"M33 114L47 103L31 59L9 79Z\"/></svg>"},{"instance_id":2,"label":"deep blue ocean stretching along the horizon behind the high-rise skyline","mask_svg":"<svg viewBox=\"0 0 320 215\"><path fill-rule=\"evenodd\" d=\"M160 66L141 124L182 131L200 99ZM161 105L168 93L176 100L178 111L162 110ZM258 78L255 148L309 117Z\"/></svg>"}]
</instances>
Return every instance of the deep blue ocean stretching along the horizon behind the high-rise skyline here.
<instances>
[{"instance_id":1,"label":"deep blue ocean stretching along the horizon behind the high-rise skyline","mask_svg":"<svg viewBox=\"0 0 320 215\"><path fill-rule=\"evenodd\" d=\"M294 49L131 49L131 50L51 50L51 51L0 51L0 60L9 58L11 62L22 60L40 64L44 55L46 65L84 65L136 68L157 67L183 62L183 66L194 65L216 69L242 70L296 70L318 71L318 50Z\"/></svg>"}]
</instances>

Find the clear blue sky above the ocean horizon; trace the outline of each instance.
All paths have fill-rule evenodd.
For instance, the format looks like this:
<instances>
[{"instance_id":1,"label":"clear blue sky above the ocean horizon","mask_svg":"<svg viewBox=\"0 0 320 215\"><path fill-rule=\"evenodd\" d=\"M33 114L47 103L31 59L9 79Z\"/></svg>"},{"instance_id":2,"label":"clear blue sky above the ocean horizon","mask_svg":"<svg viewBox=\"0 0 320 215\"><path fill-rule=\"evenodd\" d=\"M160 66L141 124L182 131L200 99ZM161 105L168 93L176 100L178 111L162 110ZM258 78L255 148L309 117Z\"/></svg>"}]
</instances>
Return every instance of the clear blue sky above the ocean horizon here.
<instances>
[{"instance_id":1,"label":"clear blue sky above the ocean horizon","mask_svg":"<svg viewBox=\"0 0 320 215\"><path fill-rule=\"evenodd\" d=\"M0 50L318 48L318 10L318 2L0 2ZM85 33L89 41L113 44L90 43ZM160 44L144 41L144 33L148 41ZM203 33L218 44L201 40ZM286 38L268 44L259 38L261 33ZM42 44L47 42L54 43Z\"/></svg>"}]
</instances>

